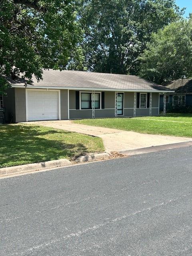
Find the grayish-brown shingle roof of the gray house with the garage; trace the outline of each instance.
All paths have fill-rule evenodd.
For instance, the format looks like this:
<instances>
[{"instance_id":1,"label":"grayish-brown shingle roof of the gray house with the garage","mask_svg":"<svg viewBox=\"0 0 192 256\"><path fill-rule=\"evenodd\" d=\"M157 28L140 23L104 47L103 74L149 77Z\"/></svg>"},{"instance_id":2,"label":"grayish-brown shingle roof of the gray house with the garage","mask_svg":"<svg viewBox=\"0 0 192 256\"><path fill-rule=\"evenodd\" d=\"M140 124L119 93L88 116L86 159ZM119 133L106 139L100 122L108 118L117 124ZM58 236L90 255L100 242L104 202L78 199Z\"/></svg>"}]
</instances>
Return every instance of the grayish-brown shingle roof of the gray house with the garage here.
<instances>
[{"instance_id":1,"label":"grayish-brown shingle roof of the gray house with the garage","mask_svg":"<svg viewBox=\"0 0 192 256\"><path fill-rule=\"evenodd\" d=\"M72 70L44 70L43 80L39 82L33 76L32 86L43 87L63 87L63 88L86 88L86 89L113 89L113 90L160 90L169 91L170 89L144 80L138 76L107 74L86 71ZM14 86L24 85L24 80L12 80L10 84Z\"/></svg>"}]
</instances>

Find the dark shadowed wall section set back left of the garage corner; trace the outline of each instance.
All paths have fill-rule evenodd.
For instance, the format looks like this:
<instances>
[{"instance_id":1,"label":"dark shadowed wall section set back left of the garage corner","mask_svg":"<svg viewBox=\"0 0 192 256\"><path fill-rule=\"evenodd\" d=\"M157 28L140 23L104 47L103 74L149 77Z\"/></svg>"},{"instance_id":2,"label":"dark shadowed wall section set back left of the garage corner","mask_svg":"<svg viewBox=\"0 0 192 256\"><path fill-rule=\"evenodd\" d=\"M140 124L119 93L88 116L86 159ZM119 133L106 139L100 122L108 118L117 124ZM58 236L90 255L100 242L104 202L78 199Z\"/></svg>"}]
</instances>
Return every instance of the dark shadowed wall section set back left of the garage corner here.
<instances>
[{"instance_id":1,"label":"dark shadowed wall section set back left of the garage corner","mask_svg":"<svg viewBox=\"0 0 192 256\"><path fill-rule=\"evenodd\" d=\"M3 96L6 122L15 122L15 88L6 90L7 95Z\"/></svg>"}]
</instances>

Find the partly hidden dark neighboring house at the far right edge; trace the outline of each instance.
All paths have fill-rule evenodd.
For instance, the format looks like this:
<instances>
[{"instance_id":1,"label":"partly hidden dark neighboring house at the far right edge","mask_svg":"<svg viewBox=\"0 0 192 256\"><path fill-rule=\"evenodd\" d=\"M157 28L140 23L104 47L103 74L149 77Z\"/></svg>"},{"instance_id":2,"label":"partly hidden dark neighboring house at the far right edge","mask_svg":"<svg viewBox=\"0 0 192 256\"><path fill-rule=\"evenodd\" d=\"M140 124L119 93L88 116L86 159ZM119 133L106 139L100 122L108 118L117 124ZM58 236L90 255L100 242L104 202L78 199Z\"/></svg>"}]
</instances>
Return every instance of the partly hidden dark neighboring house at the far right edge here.
<instances>
[{"instance_id":1,"label":"partly hidden dark neighboring house at the far right edge","mask_svg":"<svg viewBox=\"0 0 192 256\"><path fill-rule=\"evenodd\" d=\"M166 94L166 107L192 106L192 79L178 79L166 85L174 93ZM163 95L160 95L160 111L163 111Z\"/></svg>"}]
</instances>

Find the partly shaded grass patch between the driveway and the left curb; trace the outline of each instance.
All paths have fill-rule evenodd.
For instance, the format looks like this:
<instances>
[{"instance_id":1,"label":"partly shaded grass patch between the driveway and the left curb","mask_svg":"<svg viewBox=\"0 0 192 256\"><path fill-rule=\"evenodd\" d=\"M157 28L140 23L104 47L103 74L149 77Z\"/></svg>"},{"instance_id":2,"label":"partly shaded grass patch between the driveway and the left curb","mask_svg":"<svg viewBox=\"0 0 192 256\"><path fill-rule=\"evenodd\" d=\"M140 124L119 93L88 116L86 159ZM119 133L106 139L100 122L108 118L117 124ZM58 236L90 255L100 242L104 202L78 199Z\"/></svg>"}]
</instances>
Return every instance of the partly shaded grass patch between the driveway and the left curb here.
<instances>
[{"instance_id":1,"label":"partly shaded grass patch between the driveway and the left curb","mask_svg":"<svg viewBox=\"0 0 192 256\"><path fill-rule=\"evenodd\" d=\"M0 125L0 168L103 151L101 138L43 126Z\"/></svg>"}]
</instances>

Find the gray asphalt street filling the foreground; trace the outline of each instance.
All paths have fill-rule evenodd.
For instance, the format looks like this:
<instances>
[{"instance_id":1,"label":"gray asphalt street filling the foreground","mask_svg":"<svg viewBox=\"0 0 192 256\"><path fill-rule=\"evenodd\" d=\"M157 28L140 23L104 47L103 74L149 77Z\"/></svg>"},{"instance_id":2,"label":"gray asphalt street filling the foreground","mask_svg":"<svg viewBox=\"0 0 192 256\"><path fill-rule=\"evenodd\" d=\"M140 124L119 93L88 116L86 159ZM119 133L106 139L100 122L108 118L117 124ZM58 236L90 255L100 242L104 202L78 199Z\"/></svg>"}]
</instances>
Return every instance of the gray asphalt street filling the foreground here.
<instances>
[{"instance_id":1,"label":"gray asphalt street filling the foreground","mask_svg":"<svg viewBox=\"0 0 192 256\"><path fill-rule=\"evenodd\" d=\"M192 147L0 180L0 256L191 256Z\"/></svg>"}]
</instances>

